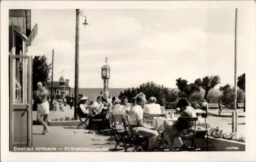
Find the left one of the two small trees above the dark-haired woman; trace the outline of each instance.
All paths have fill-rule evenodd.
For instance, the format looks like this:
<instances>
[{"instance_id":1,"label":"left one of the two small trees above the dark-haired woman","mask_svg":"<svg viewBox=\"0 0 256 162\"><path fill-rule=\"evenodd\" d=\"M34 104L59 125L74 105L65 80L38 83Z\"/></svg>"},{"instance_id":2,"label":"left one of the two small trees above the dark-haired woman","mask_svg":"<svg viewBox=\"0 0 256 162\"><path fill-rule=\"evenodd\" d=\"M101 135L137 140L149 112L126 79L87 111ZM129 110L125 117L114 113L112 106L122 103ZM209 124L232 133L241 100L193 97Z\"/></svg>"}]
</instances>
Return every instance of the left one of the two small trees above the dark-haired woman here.
<instances>
[{"instance_id":1,"label":"left one of the two small trees above the dark-haired woman","mask_svg":"<svg viewBox=\"0 0 256 162\"><path fill-rule=\"evenodd\" d=\"M186 95L187 99L194 94L194 92L200 92L200 88L196 83L187 83L188 81L182 78L176 79L176 85L178 89Z\"/></svg>"}]
</instances>

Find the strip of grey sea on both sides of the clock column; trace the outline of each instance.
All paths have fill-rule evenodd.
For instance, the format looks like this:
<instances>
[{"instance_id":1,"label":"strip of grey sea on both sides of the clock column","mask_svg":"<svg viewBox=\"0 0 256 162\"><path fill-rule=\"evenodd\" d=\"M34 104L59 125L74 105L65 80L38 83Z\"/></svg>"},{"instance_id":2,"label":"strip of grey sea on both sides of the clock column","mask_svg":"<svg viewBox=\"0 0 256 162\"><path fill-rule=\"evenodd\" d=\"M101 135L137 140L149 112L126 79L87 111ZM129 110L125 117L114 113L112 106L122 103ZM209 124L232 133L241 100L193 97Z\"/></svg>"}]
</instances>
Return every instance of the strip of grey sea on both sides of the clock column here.
<instances>
[{"instance_id":1,"label":"strip of grey sea on both sides of the clock column","mask_svg":"<svg viewBox=\"0 0 256 162\"><path fill-rule=\"evenodd\" d=\"M119 96L121 91L124 91L127 88L109 88L109 96ZM79 88L78 94L88 97L90 100L96 100L97 97L100 95L100 91L103 90L103 88ZM75 89L70 89L70 96L72 94L75 94Z\"/></svg>"}]
</instances>

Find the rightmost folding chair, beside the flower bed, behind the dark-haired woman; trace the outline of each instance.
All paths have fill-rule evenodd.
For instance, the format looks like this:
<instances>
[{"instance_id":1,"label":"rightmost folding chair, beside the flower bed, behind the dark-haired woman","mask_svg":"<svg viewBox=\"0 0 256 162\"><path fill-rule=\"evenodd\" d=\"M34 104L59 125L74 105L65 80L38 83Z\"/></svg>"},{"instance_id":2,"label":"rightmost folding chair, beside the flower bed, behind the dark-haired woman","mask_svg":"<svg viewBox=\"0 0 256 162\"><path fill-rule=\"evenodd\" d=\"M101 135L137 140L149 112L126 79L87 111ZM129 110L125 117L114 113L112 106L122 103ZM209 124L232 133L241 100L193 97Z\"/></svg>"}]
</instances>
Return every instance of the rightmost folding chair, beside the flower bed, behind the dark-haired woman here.
<instances>
[{"instance_id":1,"label":"rightmost folding chair, beside the flower bed, behind the dark-haired woman","mask_svg":"<svg viewBox=\"0 0 256 162\"><path fill-rule=\"evenodd\" d=\"M196 138L200 138L202 139L206 146L206 151L208 151L208 148L215 148L214 144L212 142L209 141L209 133L208 133L208 128L207 128L207 112L206 111L202 111L200 113L197 113L197 116L202 116L202 118L204 119L204 123L205 123L205 130L196 130L196 134L195 134L195 137ZM206 136L206 139L205 139L205 136ZM212 146L208 146L208 144L211 144Z\"/></svg>"}]
</instances>

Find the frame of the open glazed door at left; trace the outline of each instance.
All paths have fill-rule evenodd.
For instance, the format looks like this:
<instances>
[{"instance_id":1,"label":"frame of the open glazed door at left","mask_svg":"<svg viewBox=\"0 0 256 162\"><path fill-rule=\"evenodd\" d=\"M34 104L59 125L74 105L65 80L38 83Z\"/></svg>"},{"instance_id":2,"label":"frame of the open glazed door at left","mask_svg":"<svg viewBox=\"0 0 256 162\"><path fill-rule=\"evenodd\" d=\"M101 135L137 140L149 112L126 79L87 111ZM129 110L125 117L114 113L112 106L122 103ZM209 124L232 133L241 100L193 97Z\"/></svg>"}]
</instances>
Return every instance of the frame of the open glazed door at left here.
<instances>
[{"instance_id":1,"label":"frame of the open glazed door at left","mask_svg":"<svg viewBox=\"0 0 256 162\"><path fill-rule=\"evenodd\" d=\"M15 59L17 58L22 58L22 59L26 59L28 62L28 66L27 66L27 70L26 68L24 68L23 66L23 73L27 73L27 82L26 83L23 83L24 85L27 84L28 85L28 91L26 89L28 94L27 94L27 103L23 103L23 104L19 104L19 105L26 105L26 104L29 104L29 108L27 109L22 109L25 111L25 113L27 113L28 115L28 130L27 130L27 134L28 134L28 141L27 141L27 147L32 147L32 142L33 142L33 135L32 135L32 128L33 128L33 112L32 112L32 56L28 56L28 55L9 55L9 86L10 86L10 89L9 89L9 122L10 122L10 125L9 125L9 149L12 150L13 148L13 137L14 137L14 130L13 130L13 118L12 118L12 114L13 114L13 109L14 109L14 105L18 105L18 104L14 104L13 103L13 81L14 79L14 75L13 73L15 72L15 70L13 70L13 63ZM26 70L26 72L25 72ZM26 76L26 75L25 75Z\"/></svg>"}]
</instances>

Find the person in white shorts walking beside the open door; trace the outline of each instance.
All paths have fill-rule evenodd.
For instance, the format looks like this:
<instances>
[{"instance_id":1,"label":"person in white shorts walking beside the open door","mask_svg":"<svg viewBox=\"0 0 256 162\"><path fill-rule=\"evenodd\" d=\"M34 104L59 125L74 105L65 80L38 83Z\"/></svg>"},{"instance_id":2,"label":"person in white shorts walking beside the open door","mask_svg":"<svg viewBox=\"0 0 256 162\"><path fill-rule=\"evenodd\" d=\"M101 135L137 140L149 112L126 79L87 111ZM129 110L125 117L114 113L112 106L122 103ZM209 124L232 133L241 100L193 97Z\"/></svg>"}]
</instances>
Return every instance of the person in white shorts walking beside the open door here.
<instances>
[{"instance_id":1,"label":"person in white shorts walking beside the open door","mask_svg":"<svg viewBox=\"0 0 256 162\"><path fill-rule=\"evenodd\" d=\"M48 96L48 90L42 85L42 82L38 82L33 102L37 103L37 121L40 122L42 126L44 126L44 129L42 130L41 134L46 134L47 132L50 131L47 125L48 115L50 111L49 102L47 100Z\"/></svg>"}]
</instances>

